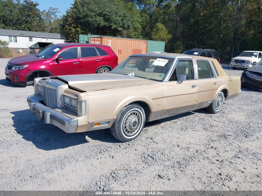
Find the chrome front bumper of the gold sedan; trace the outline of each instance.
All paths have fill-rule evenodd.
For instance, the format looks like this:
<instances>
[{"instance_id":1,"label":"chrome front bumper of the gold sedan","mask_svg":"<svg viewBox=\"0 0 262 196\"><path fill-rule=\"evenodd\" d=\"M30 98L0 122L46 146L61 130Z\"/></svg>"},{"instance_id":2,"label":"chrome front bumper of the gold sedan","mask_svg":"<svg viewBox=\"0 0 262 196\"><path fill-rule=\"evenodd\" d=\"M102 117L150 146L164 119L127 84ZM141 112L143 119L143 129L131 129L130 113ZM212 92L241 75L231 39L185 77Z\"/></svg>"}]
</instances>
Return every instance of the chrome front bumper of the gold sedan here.
<instances>
[{"instance_id":1,"label":"chrome front bumper of the gold sedan","mask_svg":"<svg viewBox=\"0 0 262 196\"><path fill-rule=\"evenodd\" d=\"M52 124L67 133L75 133L78 126L78 119L72 119L64 114L46 107L40 101L40 95L30 95L27 97L27 103L30 112L35 117L46 124Z\"/></svg>"}]
</instances>

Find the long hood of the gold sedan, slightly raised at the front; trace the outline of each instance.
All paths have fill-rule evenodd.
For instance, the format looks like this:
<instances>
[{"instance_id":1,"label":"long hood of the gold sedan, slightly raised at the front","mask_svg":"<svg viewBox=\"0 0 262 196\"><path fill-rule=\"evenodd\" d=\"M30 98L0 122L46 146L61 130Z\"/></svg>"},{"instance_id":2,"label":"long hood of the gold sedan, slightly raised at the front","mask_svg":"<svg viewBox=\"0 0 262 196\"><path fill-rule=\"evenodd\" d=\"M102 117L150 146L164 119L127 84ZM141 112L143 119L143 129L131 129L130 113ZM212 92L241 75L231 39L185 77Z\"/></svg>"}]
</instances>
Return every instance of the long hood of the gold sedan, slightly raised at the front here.
<instances>
[{"instance_id":1,"label":"long hood of the gold sedan, slightly raised at the front","mask_svg":"<svg viewBox=\"0 0 262 196\"><path fill-rule=\"evenodd\" d=\"M71 88L79 91L98 91L157 82L139 77L112 73L54 76L53 78L61 79L67 82Z\"/></svg>"}]
</instances>

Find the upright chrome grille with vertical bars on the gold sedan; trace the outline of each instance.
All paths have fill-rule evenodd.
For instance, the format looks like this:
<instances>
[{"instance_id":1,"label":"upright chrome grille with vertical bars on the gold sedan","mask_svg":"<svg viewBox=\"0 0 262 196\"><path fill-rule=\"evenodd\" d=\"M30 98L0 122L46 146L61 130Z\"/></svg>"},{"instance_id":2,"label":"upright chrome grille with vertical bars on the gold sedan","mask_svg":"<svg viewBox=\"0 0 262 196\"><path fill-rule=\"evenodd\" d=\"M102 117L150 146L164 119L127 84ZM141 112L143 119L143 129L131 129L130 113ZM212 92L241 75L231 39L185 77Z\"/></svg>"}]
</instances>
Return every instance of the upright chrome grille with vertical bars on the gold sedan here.
<instances>
[{"instance_id":1,"label":"upright chrome grille with vertical bars on the gold sedan","mask_svg":"<svg viewBox=\"0 0 262 196\"><path fill-rule=\"evenodd\" d=\"M56 89L48 88L42 86L43 90L43 101L44 104L52 109L56 109L57 107L57 97L56 97Z\"/></svg>"}]
</instances>

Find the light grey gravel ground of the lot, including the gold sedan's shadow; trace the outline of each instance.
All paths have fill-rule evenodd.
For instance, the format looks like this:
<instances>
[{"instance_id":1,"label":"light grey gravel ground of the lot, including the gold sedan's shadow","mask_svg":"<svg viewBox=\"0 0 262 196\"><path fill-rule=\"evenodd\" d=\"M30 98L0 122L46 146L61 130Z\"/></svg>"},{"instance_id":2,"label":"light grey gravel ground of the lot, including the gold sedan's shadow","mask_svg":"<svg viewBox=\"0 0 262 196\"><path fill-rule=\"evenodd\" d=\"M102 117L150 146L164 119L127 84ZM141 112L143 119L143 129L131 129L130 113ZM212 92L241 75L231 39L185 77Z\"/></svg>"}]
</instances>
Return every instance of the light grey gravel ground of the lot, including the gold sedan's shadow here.
<instances>
[{"instance_id":1,"label":"light grey gravel ground of the lot, including the gold sedan's shadow","mask_svg":"<svg viewBox=\"0 0 262 196\"><path fill-rule=\"evenodd\" d=\"M26 102L33 87L9 84L7 61L0 59L0 190L261 190L261 92L242 89L219 114L146 123L121 143L108 129L69 134L38 121Z\"/></svg>"}]
</instances>

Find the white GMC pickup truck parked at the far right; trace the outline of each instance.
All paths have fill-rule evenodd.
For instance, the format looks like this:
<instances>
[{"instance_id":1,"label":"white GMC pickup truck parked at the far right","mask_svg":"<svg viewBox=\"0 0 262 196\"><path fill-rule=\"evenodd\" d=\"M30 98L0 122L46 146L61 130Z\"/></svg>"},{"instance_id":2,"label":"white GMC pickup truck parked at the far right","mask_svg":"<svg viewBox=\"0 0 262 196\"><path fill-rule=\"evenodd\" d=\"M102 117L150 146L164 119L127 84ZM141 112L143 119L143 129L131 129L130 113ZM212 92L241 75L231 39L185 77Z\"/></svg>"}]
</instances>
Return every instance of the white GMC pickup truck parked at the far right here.
<instances>
[{"instance_id":1,"label":"white GMC pickup truck parked at the far right","mask_svg":"<svg viewBox=\"0 0 262 196\"><path fill-rule=\"evenodd\" d=\"M232 69L250 68L262 60L262 51L243 51L238 57L231 60Z\"/></svg>"}]
</instances>

